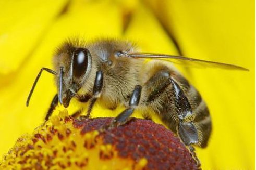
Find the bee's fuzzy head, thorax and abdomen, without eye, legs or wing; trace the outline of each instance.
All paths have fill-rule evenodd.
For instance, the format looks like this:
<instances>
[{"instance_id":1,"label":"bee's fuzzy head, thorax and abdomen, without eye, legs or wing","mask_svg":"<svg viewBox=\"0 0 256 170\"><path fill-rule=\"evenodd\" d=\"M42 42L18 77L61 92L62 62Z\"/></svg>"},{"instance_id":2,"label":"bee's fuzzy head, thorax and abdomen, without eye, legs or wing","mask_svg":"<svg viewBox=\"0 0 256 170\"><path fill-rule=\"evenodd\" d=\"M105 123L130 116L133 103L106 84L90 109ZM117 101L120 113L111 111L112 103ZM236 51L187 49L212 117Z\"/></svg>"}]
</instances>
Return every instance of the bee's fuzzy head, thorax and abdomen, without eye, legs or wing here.
<instances>
[{"instance_id":1,"label":"bee's fuzzy head, thorax and abdomen, without eye, legs or wing","mask_svg":"<svg viewBox=\"0 0 256 170\"><path fill-rule=\"evenodd\" d=\"M90 71L85 77L74 77L70 68L74 66L71 52L74 48L87 48L90 51L92 63ZM176 133L179 122L177 110L175 109L175 94L172 84L163 89L164 83L170 77L176 80L181 90L184 91L193 111L192 120L198 130L198 146L205 147L211 133L211 119L208 108L201 99L200 94L169 62L150 61L146 62L141 58L129 58L116 56L116 51L123 51L127 54L134 53L135 47L131 43L115 40L101 40L91 44L82 42L67 42L57 50L54 57L54 70L64 66L63 91L71 86L76 91L75 97L80 101L88 101L93 96L93 85L97 70L103 72L103 87L100 97L97 98L102 106L114 109L119 104L129 107L129 99L136 85L141 85L140 103L136 109L148 115L147 110L153 110L161 117L163 122ZM59 75L59 74L58 74ZM57 75L57 79L58 79ZM56 81L58 86L58 81ZM159 89L160 91L157 91ZM64 93L63 103L68 106L68 94ZM86 98L86 100L84 100Z\"/></svg>"}]
</instances>

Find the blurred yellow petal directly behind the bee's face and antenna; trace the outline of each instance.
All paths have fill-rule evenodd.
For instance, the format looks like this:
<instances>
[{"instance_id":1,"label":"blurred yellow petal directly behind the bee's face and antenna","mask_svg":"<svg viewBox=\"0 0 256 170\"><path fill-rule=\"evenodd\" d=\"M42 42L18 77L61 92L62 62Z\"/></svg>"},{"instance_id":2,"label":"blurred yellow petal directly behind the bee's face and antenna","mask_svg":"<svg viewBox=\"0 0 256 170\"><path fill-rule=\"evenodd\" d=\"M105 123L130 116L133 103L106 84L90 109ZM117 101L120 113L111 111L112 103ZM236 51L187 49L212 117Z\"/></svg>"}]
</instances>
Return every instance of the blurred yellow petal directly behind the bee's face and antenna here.
<instances>
[{"instance_id":1,"label":"blurred yellow petal directly behind the bee's face and antenna","mask_svg":"<svg viewBox=\"0 0 256 170\"><path fill-rule=\"evenodd\" d=\"M72 8L77 10L72 10ZM107 14L103 10L105 8L109 9ZM1 107L0 111L8 113L0 114L0 120L2 120L0 134L6 134L0 140L0 146L5 146L0 148L0 154L6 153L19 136L32 132L34 127L42 123L51 100L56 94L54 76L43 72L28 108L26 99L39 70L42 67L52 68L55 48L66 38L74 35L81 35L89 40L95 36L118 37L121 34L119 11L118 6L105 2L92 3L90 6L72 2L70 11L68 10L54 22L51 29L44 35L40 46L23 63L22 68L17 73L11 74L11 77L8 76L8 86L4 84L5 86L0 89L0 106L5 106ZM99 22L95 23L96 21ZM22 43L20 45L23 46ZM71 104L71 107L74 108L73 110L77 109L74 104ZM42 110L41 114L35 114L39 109ZM12 133L6 132L6 128Z\"/></svg>"}]
</instances>

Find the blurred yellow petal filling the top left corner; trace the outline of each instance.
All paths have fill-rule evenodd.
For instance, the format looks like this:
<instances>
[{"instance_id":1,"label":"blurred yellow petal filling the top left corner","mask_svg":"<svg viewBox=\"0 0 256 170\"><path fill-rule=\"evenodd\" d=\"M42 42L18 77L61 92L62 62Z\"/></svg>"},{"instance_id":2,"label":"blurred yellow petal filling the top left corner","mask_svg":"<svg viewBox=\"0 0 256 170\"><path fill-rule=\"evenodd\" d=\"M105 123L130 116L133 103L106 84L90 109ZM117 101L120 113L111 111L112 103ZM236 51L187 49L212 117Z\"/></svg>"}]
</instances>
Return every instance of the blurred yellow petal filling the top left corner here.
<instances>
[{"instance_id":1,"label":"blurred yellow petal filling the top left corner","mask_svg":"<svg viewBox=\"0 0 256 170\"><path fill-rule=\"evenodd\" d=\"M67 0L1 1L0 74L16 71L40 43Z\"/></svg>"}]
</instances>

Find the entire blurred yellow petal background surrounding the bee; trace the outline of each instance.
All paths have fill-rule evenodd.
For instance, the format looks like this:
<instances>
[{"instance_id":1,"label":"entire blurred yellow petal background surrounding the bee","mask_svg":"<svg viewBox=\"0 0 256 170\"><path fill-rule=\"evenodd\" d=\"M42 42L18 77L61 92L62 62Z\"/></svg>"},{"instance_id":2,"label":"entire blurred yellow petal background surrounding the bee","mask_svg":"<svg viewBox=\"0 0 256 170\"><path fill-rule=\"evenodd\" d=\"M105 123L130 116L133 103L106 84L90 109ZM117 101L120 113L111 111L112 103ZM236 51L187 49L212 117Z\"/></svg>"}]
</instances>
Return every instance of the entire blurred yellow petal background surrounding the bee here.
<instances>
[{"instance_id":1,"label":"entire blurred yellow petal background surrounding the bee","mask_svg":"<svg viewBox=\"0 0 256 170\"><path fill-rule=\"evenodd\" d=\"M178 67L211 111L209 146L197 148L202 168L255 169L254 12L254 1L238 0L0 1L0 155L43 122L56 93L53 75L42 74L28 108L26 98L39 70L52 68L60 43L74 35L120 37L142 51L180 51L250 69ZM77 107L72 101L70 110ZM121 110L96 114L102 109L96 104L93 116L115 116Z\"/></svg>"}]
</instances>

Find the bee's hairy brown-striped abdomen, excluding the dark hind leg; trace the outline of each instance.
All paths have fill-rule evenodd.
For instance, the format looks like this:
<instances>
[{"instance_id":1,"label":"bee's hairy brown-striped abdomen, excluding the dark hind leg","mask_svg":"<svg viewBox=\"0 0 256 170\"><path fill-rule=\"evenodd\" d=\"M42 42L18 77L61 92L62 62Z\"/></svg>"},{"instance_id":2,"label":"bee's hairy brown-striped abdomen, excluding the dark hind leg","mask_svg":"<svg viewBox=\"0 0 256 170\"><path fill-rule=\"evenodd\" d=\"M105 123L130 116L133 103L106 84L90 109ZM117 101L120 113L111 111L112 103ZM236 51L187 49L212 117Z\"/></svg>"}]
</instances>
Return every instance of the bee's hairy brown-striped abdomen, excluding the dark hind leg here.
<instances>
[{"instance_id":1,"label":"bee's hairy brown-striped abdomen, excluding the dark hind leg","mask_svg":"<svg viewBox=\"0 0 256 170\"><path fill-rule=\"evenodd\" d=\"M147 67L147 65L150 65ZM144 83L147 94L152 93L154 89L161 86L163 82L168 82L169 77L173 77L181 90L184 91L191 106L193 117L192 122L197 128L200 147L206 147L211 134L212 124L208 107L202 100L201 95L175 68L170 67L167 62L152 61L148 63L145 70L147 81ZM176 133L179 123L178 110L175 107L175 94L172 84L168 85L162 93L156 98L152 98L147 103L154 112L156 112L162 121ZM191 120L189 120L191 121Z\"/></svg>"}]
</instances>

